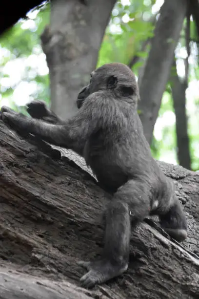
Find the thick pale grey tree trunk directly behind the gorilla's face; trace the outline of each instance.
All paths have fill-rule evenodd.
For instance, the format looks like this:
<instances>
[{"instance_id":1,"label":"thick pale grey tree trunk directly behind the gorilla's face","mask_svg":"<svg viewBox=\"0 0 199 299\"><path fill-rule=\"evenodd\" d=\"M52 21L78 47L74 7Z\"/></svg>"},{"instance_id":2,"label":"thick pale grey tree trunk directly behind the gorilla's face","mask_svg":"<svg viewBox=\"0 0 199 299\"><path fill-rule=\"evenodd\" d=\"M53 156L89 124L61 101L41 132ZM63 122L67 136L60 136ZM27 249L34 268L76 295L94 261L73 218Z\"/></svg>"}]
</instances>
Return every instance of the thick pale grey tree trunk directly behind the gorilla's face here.
<instances>
[{"instance_id":1,"label":"thick pale grey tree trunk directly behind the gorilla's face","mask_svg":"<svg viewBox=\"0 0 199 299\"><path fill-rule=\"evenodd\" d=\"M62 119L77 111L77 92L89 83L116 0L52 0L42 48L50 72L51 109Z\"/></svg>"}]
</instances>

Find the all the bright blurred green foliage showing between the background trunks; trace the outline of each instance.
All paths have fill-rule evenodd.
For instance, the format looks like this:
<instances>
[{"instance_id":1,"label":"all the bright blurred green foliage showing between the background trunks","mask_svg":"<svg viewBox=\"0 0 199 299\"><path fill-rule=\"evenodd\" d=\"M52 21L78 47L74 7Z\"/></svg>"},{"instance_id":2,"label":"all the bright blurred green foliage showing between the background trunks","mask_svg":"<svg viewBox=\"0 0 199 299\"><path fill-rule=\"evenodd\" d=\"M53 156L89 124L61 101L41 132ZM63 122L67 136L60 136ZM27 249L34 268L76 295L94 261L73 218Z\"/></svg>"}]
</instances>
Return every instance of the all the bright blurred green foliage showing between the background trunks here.
<instances>
[{"instance_id":1,"label":"all the bright blurred green foliage showing between the background trunks","mask_svg":"<svg viewBox=\"0 0 199 299\"><path fill-rule=\"evenodd\" d=\"M139 76L150 49L160 0L118 0L106 29L99 53L98 65L110 62L130 64ZM48 68L40 46L40 34L49 23L50 5L43 2L20 20L0 38L0 106L24 112L24 105L32 99L44 100L49 104ZM186 24L186 21L185 21ZM192 169L199 170L199 37L193 20L190 24L191 56L189 59L189 88L187 89L188 134ZM183 28L176 50L179 76L183 80L185 47ZM169 120L169 121L168 121ZM177 162L175 114L171 87L168 82L151 144L155 158L166 162Z\"/></svg>"}]
</instances>

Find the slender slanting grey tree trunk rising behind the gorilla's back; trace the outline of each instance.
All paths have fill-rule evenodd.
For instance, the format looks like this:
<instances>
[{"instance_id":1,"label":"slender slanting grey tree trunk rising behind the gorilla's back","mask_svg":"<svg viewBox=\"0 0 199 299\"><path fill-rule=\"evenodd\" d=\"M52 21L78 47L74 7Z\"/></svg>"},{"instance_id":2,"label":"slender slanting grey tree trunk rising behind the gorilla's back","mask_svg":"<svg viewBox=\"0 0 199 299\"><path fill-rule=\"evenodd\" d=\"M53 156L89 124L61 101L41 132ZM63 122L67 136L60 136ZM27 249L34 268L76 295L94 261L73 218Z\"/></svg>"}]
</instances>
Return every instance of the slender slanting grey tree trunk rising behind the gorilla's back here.
<instances>
[{"instance_id":1,"label":"slender slanting grey tree trunk rising behind the gorilla's back","mask_svg":"<svg viewBox=\"0 0 199 299\"><path fill-rule=\"evenodd\" d=\"M166 0L160 9L155 36L151 42L151 50L139 85L140 119L148 142L152 139L186 11L187 0Z\"/></svg>"}]
</instances>

